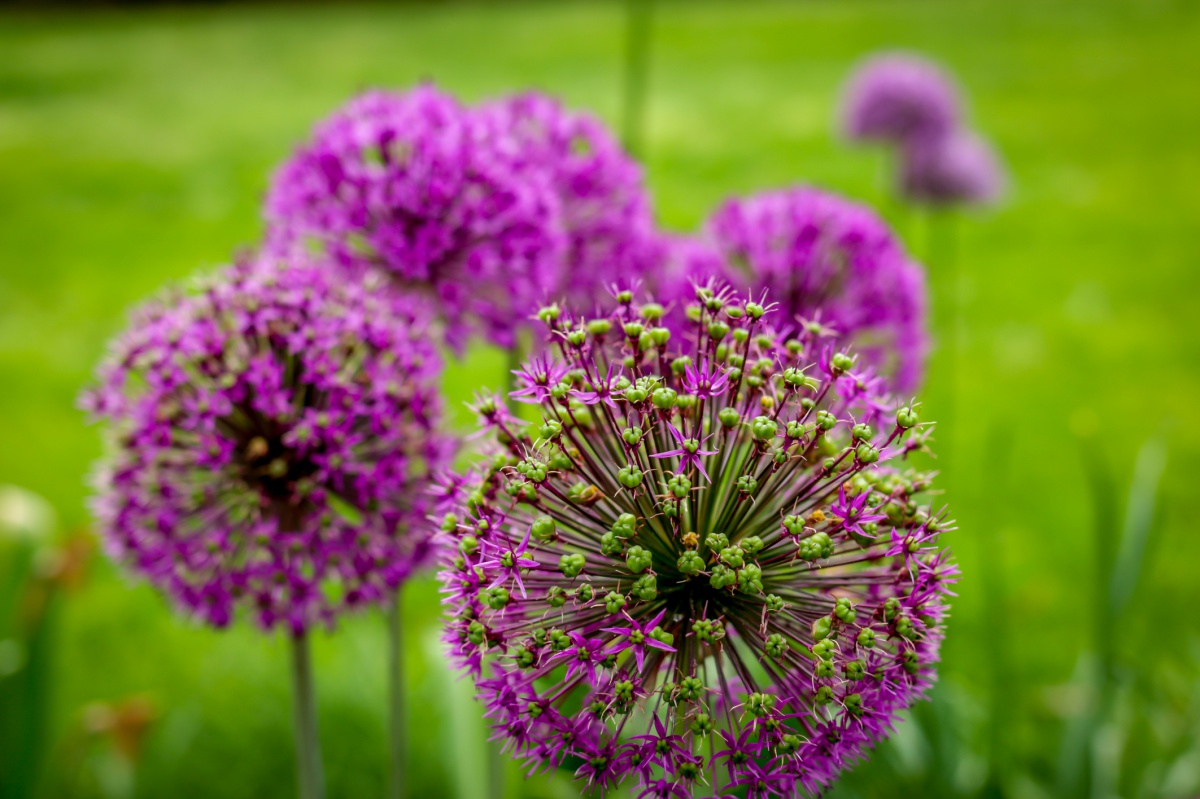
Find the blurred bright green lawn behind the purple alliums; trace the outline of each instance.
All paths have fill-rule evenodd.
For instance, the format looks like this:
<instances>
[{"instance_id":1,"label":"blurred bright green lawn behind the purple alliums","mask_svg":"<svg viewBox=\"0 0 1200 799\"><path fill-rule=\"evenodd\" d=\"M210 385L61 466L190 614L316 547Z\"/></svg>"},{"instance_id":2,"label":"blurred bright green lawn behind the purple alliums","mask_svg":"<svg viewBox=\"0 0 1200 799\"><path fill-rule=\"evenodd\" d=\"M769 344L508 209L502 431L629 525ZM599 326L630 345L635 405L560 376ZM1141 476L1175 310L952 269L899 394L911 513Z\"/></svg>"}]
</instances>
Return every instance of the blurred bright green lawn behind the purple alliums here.
<instances>
[{"instance_id":1,"label":"blurred bright green lawn behind the purple alliums","mask_svg":"<svg viewBox=\"0 0 1200 799\"><path fill-rule=\"evenodd\" d=\"M85 475L100 447L73 403L104 338L163 281L254 242L270 169L316 119L356 89L434 78L468 100L535 86L616 122L622 10L0 16L0 482L44 494L68 527L86 523ZM1123 657L1147 673L1184 663L1200 633L1200 539L1187 512L1200 475L1198 41L1194 5L1150 0L664 2L655 20L647 168L668 227L696 224L730 193L808 181L881 205L923 253L925 220L889 202L878 154L834 136L842 79L884 47L949 65L1009 163L1006 206L960 221L959 286L930 275L940 330L955 290L967 319L954 428L940 435L942 486L961 524L948 540L965 572L943 677L962 696L988 696L994 617L977 575L992 564L1012 633L1007 745L1034 779L1052 773L1063 726L1045 689L1069 679L1094 612L1073 419L1099 423L1118 485L1142 440L1168 441L1165 522L1120 630ZM947 362L942 348L926 417L950 404ZM498 385L502 368L485 352L454 367L451 404L480 376ZM1002 481L984 463L994 429L1012 450ZM281 641L196 629L108 565L61 611L55 740L86 703L149 692L163 716L138 795L290 793ZM448 680L430 654L436 614L433 583L413 584L414 795L430 797L475 785L439 755L469 747L438 698ZM348 623L318 643L317 659L331 795L377 793L378 619ZM48 791L65 791L65 751L52 752ZM865 785L881 768L864 767ZM102 786L77 787L92 795ZM520 787L570 795L558 783Z\"/></svg>"}]
</instances>

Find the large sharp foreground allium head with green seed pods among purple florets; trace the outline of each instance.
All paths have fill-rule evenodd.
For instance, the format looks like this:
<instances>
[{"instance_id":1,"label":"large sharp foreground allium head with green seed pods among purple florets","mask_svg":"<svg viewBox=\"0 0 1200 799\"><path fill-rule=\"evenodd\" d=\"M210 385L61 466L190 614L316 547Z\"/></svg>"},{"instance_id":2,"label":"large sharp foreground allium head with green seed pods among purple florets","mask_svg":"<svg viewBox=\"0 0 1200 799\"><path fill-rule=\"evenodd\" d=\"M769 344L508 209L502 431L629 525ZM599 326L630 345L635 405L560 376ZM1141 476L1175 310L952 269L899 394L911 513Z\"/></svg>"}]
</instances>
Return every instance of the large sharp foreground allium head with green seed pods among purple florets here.
<instances>
[{"instance_id":1,"label":"large sharp foreground allium head with green seed pods among purple florets","mask_svg":"<svg viewBox=\"0 0 1200 799\"><path fill-rule=\"evenodd\" d=\"M558 366L518 389L541 420L480 401L494 456L448 487L445 641L532 769L815 794L934 681L953 524L904 465L916 411L869 368L697 299L682 341L655 304L541 314Z\"/></svg>"}]
</instances>

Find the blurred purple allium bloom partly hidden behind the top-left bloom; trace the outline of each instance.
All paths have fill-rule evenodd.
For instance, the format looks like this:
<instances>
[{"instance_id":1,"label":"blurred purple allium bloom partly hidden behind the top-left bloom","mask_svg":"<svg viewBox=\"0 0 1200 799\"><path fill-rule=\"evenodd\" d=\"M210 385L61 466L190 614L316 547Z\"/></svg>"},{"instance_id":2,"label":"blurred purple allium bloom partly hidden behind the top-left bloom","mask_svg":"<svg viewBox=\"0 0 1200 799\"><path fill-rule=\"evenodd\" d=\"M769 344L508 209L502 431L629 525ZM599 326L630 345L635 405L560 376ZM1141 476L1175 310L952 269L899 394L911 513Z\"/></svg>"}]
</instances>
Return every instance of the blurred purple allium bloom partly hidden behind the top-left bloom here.
<instances>
[{"instance_id":1,"label":"blurred purple allium bloom partly hidden behind the top-left bloom","mask_svg":"<svg viewBox=\"0 0 1200 799\"><path fill-rule=\"evenodd\" d=\"M594 307L610 286L644 276L654 216L641 166L598 119L526 92L480 109L488 130L509 137L522 166L542 172L559 202L566 239L557 280L542 300ZM536 307L529 308L529 314Z\"/></svg>"}]
</instances>

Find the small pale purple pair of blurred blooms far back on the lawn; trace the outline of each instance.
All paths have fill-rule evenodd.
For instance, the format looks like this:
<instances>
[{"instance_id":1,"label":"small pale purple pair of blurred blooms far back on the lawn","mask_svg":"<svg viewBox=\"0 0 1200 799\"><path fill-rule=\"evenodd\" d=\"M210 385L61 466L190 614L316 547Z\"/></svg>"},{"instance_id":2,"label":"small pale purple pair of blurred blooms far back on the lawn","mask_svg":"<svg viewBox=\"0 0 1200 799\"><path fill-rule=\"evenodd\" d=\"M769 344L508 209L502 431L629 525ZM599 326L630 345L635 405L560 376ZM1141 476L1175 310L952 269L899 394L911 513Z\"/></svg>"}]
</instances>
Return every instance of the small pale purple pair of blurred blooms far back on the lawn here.
<instances>
[{"instance_id":1,"label":"small pale purple pair of blurred blooms far back on the lawn","mask_svg":"<svg viewBox=\"0 0 1200 799\"><path fill-rule=\"evenodd\" d=\"M896 149L900 194L926 205L983 205L1003 191L995 152L962 119L953 79L923 58L893 53L851 78L842 128L852 140Z\"/></svg>"}]
</instances>

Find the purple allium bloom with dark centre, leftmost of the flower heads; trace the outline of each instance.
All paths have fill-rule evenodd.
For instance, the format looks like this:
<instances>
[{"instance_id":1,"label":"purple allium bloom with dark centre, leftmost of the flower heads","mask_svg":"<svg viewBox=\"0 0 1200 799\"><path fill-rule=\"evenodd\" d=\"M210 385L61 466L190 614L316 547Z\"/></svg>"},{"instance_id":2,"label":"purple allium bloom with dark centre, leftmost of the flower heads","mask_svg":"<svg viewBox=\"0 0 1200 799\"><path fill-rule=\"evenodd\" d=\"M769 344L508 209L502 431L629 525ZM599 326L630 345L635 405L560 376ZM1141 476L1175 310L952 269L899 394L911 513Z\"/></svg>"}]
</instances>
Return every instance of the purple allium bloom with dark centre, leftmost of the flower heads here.
<instances>
[{"instance_id":1,"label":"purple allium bloom with dark centre, leftmost of the flower heads","mask_svg":"<svg viewBox=\"0 0 1200 799\"><path fill-rule=\"evenodd\" d=\"M82 398L116 559L208 624L300 633L428 558L440 362L385 281L263 259L137 311Z\"/></svg>"}]
</instances>

